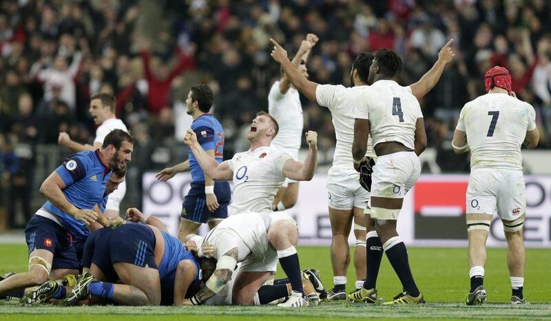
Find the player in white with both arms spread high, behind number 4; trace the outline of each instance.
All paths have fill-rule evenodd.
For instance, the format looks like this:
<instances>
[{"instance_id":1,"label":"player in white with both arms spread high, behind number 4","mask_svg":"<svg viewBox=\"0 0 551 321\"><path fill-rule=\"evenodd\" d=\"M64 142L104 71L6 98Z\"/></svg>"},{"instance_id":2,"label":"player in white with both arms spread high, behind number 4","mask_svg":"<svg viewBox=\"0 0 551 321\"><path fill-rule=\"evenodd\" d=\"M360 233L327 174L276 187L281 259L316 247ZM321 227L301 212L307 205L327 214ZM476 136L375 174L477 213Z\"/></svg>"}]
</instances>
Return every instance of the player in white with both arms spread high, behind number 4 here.
<instances>
[{"instance_id":1,"label":"player in white with both arms spread high, behind number 4","mask_svg":"<svg viewBox=\"0 0 551 321\"><path fill-rule=\"evenodd\" d=\"M438 82L444 67L455 56L450 45L450 39L438 54L438 60L417 83L407 87L410 92L421 99ZM275 42L274 42L275 44ZM333 265L333 284L335 287L327 294L328 300L346 299L346 269L350 263L350 251L348 237L354 220L354 234L356 237L356 251L354 253L354 265L356 269L355 286L360 289L366 279L366 251L367 260L371 261L371 270L367 271L367 279L373 282L369 288L375 288L375 280L379 271L382 259L382 244L375 231L375 223L369 219L367 223L367 246L366 246L366 225L364 225L364 213L369 214L369 207L366 207L369 192L362 188L356 178L358 173L353 167L351 149L353 142L354 115L353 105L357 95L367 87L369 67L373 61L373 54L359 54L351 69L351 85L318 85L309 81L303 76L287 59L287 53L282 52L276 45L272 56L275 61L281 64L287 79L306 98L316 101L319 105L328 107L333 118L337 145L333 155L333 166L329 169L327 189L329 197L329 218L333 239L331 242L331 263ZM374 158L371 138L368 138L366 156ZM365 209L365 211L364 211Z\"/></svg>"}]
</instances>

